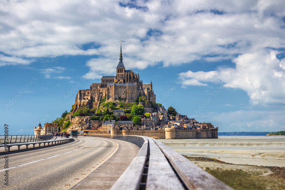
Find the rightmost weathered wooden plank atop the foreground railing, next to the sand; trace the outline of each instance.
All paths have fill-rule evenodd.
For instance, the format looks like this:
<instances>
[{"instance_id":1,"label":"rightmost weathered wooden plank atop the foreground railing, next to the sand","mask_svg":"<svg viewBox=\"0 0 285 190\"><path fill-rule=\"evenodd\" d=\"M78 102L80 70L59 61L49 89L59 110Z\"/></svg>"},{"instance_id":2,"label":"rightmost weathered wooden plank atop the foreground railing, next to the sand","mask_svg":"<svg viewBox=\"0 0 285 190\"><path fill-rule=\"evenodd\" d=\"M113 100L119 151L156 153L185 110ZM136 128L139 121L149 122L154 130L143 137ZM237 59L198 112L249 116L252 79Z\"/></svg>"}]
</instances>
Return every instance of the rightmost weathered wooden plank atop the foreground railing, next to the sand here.
<instances>
[{"instance_id":1,"label":"rightmost weathered wooden plank atop the foreground railing, next to the sand","mask_svg":"<svg viewBox=\"0 0 285 190\"><path fill-rule=\"evenodd\" d=\"M232 189L172 148L154 138L152 138L152 140L169 159L188 189Z\"/></svg>"}]
</instances>

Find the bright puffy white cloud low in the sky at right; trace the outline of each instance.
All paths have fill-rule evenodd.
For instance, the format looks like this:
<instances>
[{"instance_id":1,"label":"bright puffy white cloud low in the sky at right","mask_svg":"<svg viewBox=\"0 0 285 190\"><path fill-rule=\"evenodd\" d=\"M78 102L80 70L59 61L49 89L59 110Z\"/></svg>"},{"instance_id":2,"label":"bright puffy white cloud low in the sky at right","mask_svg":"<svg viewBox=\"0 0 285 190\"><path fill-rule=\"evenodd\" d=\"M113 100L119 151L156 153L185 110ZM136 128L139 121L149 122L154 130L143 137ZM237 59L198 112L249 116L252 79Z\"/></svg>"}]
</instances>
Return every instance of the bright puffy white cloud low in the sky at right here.
<instances>
[{"instance_id":1,"label":"bright puffy white cloud low in the sky at right","mask_svg":"<svg viewBox=\"0 0 285 190\"><path fill-rule=\"evenodd\" d=\"M224 87L246 91L253 105L285 103L284 59L277 59L276 54L276 51L261 50L234 58L235 68L219 67L216 71L180 73L182 86L195 85L189 80L222 83Z\"/></svg>"}]
</instances>

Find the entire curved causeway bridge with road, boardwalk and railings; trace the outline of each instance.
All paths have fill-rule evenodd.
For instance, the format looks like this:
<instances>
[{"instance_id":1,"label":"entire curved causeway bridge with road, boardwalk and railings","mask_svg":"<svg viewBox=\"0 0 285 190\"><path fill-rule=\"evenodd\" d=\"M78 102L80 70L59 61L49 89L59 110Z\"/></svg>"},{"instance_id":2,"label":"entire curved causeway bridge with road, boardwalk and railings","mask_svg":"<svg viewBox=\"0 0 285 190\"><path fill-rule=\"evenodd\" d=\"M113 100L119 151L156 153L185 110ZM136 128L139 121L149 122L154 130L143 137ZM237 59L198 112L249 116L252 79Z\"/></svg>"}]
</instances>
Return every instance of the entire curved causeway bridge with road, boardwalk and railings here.
<instances>
[{"instance_id":1,"label":"entire curved causeway bridge with road, boardwalk and railings","mask_svg":"<svg viewBox=\"0 0 285 190\"><path fill-rule=\"evenodd\" d=\"M11 138L6 147L0 145L0 189L231 189L146 136Z\"/></svg>"}]
</instances>

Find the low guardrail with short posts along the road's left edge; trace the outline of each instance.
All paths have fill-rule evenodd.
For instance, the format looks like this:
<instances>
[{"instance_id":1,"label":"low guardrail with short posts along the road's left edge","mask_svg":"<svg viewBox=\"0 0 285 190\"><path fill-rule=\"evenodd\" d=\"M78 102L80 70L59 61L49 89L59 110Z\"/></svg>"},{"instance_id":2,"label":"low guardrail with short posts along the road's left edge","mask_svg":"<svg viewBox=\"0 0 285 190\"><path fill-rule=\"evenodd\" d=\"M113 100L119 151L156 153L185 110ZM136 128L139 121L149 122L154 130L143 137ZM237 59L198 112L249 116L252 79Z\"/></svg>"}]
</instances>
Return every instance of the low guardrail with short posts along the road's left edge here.
<instances>
[{"instance_id":1,"label":"low guardrail with short posts along the road's left edge","mask_svg":"<svg viewBox=\"0 0 285 190\"><path fill-rule=\"evenodd\" d=\"M33 145L33 148L35 148L35 144L39 144L38 147L40 147L40 144L42 144L42 143L44 143L44 146L46 145L46 143L47 143L48 146L49 146L50 143L51 143L51 145L53 145L53 143L56 144L56 142L57 142L57 144L59 144L59 143L64 143L64 142L68 142L68 141L71 141L71 140L73 140L73 138L72 138L72 137L69 137L69 138L60 138L60 139L58 139L58 140L46 140L46 141L38 141L38 142L24 142L24 143L13 143L13 144L1 144L0 147L5 147L5 149L7 148L7 150L10 151L10 147L11 147L11 146L18 146L18 150L20 150L20 146L22 146L22 145L26 145L26 146L27 146L26 149L28 149L28 146L29 146L30 144L32 144L32 145Z\"/></svg>"}]
</instances>

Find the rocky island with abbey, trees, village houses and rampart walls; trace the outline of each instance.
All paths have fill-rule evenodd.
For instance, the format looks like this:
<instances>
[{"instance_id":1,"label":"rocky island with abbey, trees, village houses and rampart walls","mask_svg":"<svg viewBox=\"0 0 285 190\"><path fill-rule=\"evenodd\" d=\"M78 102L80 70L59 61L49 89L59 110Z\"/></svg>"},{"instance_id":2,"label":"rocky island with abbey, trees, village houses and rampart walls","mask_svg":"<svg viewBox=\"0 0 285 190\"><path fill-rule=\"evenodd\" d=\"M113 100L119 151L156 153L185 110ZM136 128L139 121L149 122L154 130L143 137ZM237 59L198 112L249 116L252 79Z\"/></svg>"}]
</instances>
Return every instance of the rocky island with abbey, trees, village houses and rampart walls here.
<instances>
[{"instance_id":1,"label":"rocky island with abbey, trees, village houses and rampart walls","mask_svg":"<svg viewBox=\"0 0 285 190\"><path fill-rule=\"evenodd\" d=\"M72 110L53 123L62 131L84 134L142 135L154 138L218 138L218 128L177 113L156 103L152 82L143 83L139 73L126 70L122 47L115 76L79 90Z\"/></svg>"}]
</instances>

